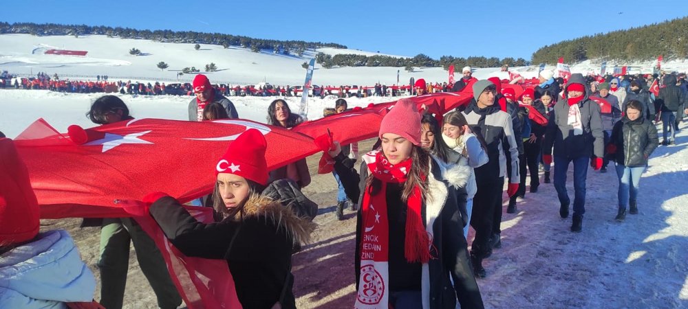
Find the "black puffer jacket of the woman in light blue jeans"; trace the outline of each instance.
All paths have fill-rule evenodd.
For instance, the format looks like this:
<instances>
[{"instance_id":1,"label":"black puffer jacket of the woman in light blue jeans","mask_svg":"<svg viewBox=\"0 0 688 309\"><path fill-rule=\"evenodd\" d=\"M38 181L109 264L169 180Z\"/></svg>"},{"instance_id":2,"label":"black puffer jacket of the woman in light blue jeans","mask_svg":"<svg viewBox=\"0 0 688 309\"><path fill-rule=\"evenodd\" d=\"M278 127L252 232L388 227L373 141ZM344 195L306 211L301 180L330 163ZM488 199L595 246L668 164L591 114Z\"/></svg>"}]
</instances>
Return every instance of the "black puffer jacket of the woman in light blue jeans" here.
<instances>
[{"instance_id":1,"label":"black puffer jacket of the woman in light blue jeans","mask_svg":"<svg viewBox=\"0 0 688 309\"><path fill-rule=\"evenodd\" d=\"M614 125L610 144L616 146L610 157L617 164L630 168L647 166L647 158L659 145L657 129L643 115L635 120L625 116Z\"/></svg>"}]
</instances>

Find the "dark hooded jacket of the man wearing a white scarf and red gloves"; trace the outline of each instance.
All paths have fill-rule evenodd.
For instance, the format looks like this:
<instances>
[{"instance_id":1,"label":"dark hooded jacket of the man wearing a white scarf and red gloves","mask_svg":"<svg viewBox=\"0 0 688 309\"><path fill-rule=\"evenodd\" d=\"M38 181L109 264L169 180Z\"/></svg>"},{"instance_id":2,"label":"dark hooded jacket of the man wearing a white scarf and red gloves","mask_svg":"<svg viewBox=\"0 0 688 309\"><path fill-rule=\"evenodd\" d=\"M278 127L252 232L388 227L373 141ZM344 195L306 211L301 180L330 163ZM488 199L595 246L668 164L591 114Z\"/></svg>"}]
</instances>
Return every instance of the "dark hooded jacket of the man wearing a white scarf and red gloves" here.
<instances>
[{"instance_id":1,"label":"dark hooded jacket of the man wearing a white scarf and red gloves","mask_svg":"<svg viewBox=\"0 0 688 309\"><path fill-rule=\"evenodd\" d=\"M585 84L580 73L572 74L564 89L568 89L568 86L574 83ZM554 157L567 159L591 155L603 157L604 133L600 106L588 98L589 91L588 87L585 87L584 98L578 103L581 110L581 122L583 122L583 134L574 135L573 126L568 124L568 91L564 90L566 99L559 100L554 110L550 112L542 148L543 155L551 154L554 148Z\"/></svg>"}]
</instances>

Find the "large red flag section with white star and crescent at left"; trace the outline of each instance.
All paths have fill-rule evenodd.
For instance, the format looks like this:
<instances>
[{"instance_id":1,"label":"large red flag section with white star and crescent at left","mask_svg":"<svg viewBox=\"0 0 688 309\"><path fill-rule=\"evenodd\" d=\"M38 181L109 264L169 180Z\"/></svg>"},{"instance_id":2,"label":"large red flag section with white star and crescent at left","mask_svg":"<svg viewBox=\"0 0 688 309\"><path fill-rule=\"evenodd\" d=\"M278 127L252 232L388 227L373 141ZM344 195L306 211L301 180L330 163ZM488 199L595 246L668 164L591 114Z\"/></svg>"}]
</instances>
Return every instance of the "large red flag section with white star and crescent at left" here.
<instances>
[{"instance_id":1,"label":"large red flag section with white star and crescent at left","mask_svg":"<svg viewBox=\"0 0 688 309\"><path fill-rule=\"evenodd\" d=\"M209 194L217 160L248 128L265 135L269 170L318 151L309 137L243 119L133 119L86 129L80 145L46 126L35 122L16 140L42 218L117 218L127 216L117 200L164 191L186 203Z\"/></svg>"}]
</instances>

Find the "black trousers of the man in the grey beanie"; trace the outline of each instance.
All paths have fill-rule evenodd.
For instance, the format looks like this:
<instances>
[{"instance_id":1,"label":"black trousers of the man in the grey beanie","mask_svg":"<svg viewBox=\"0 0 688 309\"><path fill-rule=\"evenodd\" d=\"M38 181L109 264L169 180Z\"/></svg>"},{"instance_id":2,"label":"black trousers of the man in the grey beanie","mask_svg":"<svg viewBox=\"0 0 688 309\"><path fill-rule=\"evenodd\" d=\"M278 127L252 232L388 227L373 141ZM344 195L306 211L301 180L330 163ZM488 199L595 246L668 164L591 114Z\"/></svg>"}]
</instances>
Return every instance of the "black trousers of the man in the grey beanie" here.
<instances>
[{"instance_id":1,"label":"black trousers of the man in the grey beanie","mask_svg":"<svg viewBox=\"0 0 688 309\"><path fill-rule=\"evenodd\" d=\"M473 197L473 211L471 211L471 227L475 229L475 239L472 249L476 255L482 257L487 253L488 241L492 236L493 225L502 222L502 188L504 177L493 182L478 183L477 192ZM495 206L499 203L499 218L495 221Z\"/></svg>"}]
</instances>

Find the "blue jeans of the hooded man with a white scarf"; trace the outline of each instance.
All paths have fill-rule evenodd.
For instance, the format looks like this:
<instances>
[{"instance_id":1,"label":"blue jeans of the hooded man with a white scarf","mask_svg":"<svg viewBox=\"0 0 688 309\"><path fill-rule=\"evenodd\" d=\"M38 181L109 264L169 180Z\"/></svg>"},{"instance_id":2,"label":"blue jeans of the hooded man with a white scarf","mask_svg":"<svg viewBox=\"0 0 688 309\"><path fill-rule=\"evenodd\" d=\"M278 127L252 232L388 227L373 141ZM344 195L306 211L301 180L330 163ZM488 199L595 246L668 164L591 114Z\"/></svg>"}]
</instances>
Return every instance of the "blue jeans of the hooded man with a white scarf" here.
<instances>
[{"instance_id":1,"label":"blue jeans of the hooded man with a white scarf","mask_svg":"<svg viewBox=\"0 0 688 309\"><path fill-rule=\"evenodd\" d=\"M573 199L573 214L585 214L585 179L588 177L588 164L590 157L579 157L568 159L565 157L554 157L555 161L555 189L559 196L559 203L569 205L571 203L566 191L566 171L568 163L573 161L573 187L575 190Z\"/></svg>"}]
</instances>

